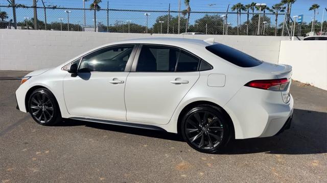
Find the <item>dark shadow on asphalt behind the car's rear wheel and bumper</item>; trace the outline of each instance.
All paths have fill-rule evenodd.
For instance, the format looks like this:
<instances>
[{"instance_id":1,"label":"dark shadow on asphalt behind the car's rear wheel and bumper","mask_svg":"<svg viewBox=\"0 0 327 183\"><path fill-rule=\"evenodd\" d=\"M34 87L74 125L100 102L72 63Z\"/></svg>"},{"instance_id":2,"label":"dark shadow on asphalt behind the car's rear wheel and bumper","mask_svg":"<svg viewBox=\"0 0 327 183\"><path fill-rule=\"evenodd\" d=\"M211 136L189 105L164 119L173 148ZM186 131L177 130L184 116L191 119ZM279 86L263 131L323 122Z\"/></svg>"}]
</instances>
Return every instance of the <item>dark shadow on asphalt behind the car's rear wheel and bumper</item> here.
<instances>
[{"instance_id":1,"label":"dark shadow on asphalt behind the car's rear wheel and bumper","mask_svg":"<svg viewBox=\"0 0 327 183\"><path fill-rule=\"evenodd\" d=\"M327 113L294 109L293 114L291 128L282 134L267 138L234 140L223 153L326 153Z\"/></svg>"}]
</instances>

